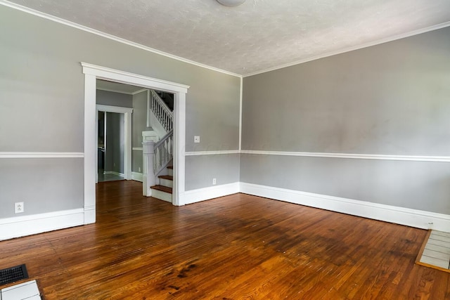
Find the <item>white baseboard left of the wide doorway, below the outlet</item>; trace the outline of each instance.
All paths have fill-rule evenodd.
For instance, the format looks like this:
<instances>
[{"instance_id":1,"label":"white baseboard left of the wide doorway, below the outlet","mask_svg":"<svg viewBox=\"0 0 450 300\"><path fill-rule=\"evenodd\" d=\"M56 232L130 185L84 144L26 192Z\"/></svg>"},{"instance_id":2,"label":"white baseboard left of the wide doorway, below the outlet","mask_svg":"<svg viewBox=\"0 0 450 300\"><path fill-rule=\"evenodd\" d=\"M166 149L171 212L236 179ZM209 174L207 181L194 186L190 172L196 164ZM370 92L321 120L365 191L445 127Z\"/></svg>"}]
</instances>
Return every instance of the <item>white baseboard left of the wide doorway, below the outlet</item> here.
<instances>
[{"instance_id":1,"label":"white baseboard left of the wide doorway, below the outlet","mask_svg":"<svg viewBox=\"0 0 450 300\"><path fill-rule=\"evenodd\" d=\"M0 219L0 240L45 233L84 224L84 209L54 211Z\"/></svg>"}]
</instances>

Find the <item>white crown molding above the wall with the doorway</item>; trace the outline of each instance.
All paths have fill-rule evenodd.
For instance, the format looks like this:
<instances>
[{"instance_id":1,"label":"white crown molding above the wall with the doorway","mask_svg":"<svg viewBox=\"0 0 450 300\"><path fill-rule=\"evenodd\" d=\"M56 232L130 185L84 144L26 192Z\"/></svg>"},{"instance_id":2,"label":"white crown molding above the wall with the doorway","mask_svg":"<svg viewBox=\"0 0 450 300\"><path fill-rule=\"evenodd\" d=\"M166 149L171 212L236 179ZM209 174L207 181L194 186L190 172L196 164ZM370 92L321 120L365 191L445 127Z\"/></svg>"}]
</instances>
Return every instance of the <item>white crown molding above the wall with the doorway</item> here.
<instances>
[{"instance_id":1,"label":"white crown molding above the wall with the doorway","mask_svg":"<svg viewBox=\"0 0 450 300\"><path fill-rule=\"evenodd\" d=\"M151 52L151 53L156 53L156 54L159 54L160 56L166 56L166 57L172 58L174 60L179 60L179 61L181 61L183 63L189 63L191 65L196 65L198 67L204 67L205 69L209 69L209 70L213 70L213 71L216 71L216 72L221 72L221 73L224 73L224 74L229 74L229 75L232 75L232 76L240 77L240 74L236 74L236 73L229 72L229 71L226 71L226 70L221 70L221 69L219 69L217 67L211 67L210 65L204 65L203 63L198 63L198 62L195 62L194 60L188 60L187 58L182 58L180 56L174 56L173 54L166 53L164 51L160 51L160 50L155 49L155 48L150 48L148 46L144 46L142 44L135 43L134 41L129 41L127 39L122 39L121 37L116 37L113 34L108 34L108 33L105 33L105 32L101 32L100 30L94 30L93 28L90 28L90 27L87 27L87 26L84 26L84 25L77 24L75 22L71 22L71 21L65 20L63 18L58 18L58 17L56 17L54 15L49 15L48 13L42 13L41 11L36 11L36 10L34 10L32 8L29 8L29 7L26 7L26 6L21 6L19 4L15 4L15 3L12 3L12 2L9 2L9 1L6 1L6 0L0 0L0 4L4 5L4 6L8 6L10 8L17 9L18 11L23 11L24 13L30 13L32 15L37 15L38 17L41 17L41 18L44 18L44 19L47 19L47 20L51 20L53 22L58 22L60 24L76 28L78 30L83 30L84 32L89 32L91 34L96 34L96 35L98 35L100 37L105 37L106 39L112 39L113 41L118 41L119 43L126 44L128 46L139 48L139 49Z\"/></svg>"}]
</instances>

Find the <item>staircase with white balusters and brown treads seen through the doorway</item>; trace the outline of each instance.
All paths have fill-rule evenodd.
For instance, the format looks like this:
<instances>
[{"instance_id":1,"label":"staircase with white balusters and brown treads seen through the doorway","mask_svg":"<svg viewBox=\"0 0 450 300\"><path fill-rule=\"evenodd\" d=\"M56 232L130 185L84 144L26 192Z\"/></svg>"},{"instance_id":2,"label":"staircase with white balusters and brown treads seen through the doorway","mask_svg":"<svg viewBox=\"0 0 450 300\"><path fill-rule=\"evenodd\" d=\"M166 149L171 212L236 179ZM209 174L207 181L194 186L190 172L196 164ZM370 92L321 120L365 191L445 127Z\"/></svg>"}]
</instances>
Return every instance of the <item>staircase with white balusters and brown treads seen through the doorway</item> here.
<instances>
[{"instance_id":1,"label":"staircase with white balusters and brown treads seen through the doorway","mask_svg":"<svg viewBox=\"0 0 450 300\"><path fill-rule=\"evenodd\" d=\"M143 195L172 203L173 177L173 112L150 90L150 110L147 112L153 125L163 131L159 141L143 138ZM158 122L158 124L155 124Z\"/></svg>"}]
</instances>

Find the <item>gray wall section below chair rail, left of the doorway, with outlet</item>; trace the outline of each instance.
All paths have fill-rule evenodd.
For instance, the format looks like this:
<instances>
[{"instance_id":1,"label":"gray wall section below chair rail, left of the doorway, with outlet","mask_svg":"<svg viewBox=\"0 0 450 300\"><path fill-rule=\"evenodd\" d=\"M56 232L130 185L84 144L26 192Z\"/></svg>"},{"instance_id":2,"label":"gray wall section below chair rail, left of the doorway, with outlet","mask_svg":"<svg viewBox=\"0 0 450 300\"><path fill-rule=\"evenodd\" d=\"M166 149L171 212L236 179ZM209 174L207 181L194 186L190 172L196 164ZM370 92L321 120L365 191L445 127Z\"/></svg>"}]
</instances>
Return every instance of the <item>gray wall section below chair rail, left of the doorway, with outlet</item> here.
<instances>
[{"instance_id":1,"label":"gray wall section below chair rail, left of the doorway, with outlet","mask_svg":"<svg viewBox=\"0 0 450 300\"><path fill-rule=\"evenodd\" d=\"M0 219L14 215L14 202L25 207L15 216L83 207L80 165L82 158L0 159Z\"/></svg>"}]
</instances>

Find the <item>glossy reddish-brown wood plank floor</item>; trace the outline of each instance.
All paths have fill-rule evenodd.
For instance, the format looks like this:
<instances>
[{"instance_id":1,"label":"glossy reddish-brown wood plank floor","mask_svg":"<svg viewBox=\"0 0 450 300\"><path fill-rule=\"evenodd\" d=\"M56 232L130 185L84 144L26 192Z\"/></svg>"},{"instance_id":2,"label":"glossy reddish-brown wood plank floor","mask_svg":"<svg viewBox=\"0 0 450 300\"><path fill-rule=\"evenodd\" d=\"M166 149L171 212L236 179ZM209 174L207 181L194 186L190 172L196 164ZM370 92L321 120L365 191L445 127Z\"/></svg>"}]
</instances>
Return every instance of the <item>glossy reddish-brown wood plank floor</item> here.
<instances>
[{"instance_id":1,"label":"glossy reddish-brown wood plank floor","mask_svg":"<svg viewBox=\"0 0 450 300\"><path fill-rule=\"evenodd\" d=\"M249 195L173 207L99 183L97 223L0 242L44 299L450 299L426 231Z\"/></svg>"}]
</instances>

